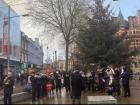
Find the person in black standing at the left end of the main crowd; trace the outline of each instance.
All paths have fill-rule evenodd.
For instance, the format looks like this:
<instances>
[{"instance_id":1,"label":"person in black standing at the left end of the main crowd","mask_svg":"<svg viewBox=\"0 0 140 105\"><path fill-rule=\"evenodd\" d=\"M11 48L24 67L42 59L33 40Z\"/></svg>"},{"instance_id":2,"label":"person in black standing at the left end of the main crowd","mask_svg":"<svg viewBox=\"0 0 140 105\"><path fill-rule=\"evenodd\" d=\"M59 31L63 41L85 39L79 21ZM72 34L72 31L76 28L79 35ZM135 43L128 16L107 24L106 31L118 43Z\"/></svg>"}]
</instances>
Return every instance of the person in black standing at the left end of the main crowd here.
<instances>
[{"instance_id":1,"label":"person in black standing at the left end of the main crowd","mask_svg":"<svg viewBox=\"0 0 140 105\"><path fill-rule=\"evenodd\" d=\"M32 73L30 80L32 85L32 102L34 102L36 98L36 92L37 92L37 78L35 77L34 72Z\"/></svg>"}]
</instances>

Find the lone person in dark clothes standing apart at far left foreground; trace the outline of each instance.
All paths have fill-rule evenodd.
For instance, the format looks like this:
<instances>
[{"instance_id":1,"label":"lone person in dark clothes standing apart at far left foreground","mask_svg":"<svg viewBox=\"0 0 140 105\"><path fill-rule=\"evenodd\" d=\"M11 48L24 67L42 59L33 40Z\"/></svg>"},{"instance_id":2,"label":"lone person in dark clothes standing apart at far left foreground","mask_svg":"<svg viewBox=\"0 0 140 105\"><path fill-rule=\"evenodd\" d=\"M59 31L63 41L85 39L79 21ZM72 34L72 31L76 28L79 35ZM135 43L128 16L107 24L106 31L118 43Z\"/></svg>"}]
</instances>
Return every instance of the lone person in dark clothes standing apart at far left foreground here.
<instances>
[{"instance_id":1,"label":"lone person in dark clothes standing apart at far left foreground","mask_svg":"<svg viewBox=\"0 0 140 105\"><path fill-rule=\"evenodd\" d=\"M12 104L13 86L14 78L12 78L12 72L8 71L7 76L4 78L4 104Z\"/></svg>"}]
</instances>

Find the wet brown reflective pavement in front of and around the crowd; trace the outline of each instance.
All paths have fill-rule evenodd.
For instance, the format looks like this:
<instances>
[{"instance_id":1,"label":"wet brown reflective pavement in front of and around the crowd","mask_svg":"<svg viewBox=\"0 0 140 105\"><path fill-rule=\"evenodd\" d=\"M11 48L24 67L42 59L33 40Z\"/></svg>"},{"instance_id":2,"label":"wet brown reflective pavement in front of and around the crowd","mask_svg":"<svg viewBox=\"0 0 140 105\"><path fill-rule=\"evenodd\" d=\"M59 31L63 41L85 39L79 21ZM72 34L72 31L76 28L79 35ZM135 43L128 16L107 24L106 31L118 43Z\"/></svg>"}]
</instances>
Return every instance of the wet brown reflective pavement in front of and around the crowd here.
<instances>
[{"instance_id":1,"label":"wet brown reflective pavement in front of and around the crowd","mask_svg":"<svg viewBox=\"0 0 140 105\"><path fill-rule=\"evenodd\" d=\"M140 88L139 84L140 82L138 81L136 84L134 84L135 81L131 81L131 97L123 97L123 93L119 98L115 97L117 99L117 104L140 104ZM101 93L101 92L83 92L82 97L81 97L81 104L87 104L87 96L98 96L98 95L107 95L106 93ZM65 89L62 88L62 93L61 95L58 94L48 97L41 98L40 100L36 101L35 103L32 103L31 99L29 100L24 100L22 102L14 103L14 104L72 104L70 95L65 92Z\"/></svg>"}]
</instances>

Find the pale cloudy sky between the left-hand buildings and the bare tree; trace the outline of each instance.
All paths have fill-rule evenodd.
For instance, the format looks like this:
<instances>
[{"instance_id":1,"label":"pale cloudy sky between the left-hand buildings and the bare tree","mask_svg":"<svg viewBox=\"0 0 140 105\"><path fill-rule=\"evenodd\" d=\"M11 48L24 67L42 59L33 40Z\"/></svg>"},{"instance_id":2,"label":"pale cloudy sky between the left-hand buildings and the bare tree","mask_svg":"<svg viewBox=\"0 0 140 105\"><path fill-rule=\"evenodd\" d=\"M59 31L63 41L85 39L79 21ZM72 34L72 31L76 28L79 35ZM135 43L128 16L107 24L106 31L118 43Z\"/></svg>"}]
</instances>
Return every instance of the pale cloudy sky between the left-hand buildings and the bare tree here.
<instances>
[{"instance_id":1,"label":"pale cloudy sky between the left-hand buildings and the bare tree","mask_svg":"<svg viewBox=\"0 0 140 105\"><path fill-rule=\"evenodd\" d=\"M36 37L39 37L40 40L42 40L45 59L47 58L47 46L49 47L49 55L51 56L52 59L53 59L54 51L57 51L58 59L64 59L64 46L62 45L63 39L61 38L61 36L57 35L57 37L53 37L53 38L46 37L48 35L50 36L50 34L49 33L46 33L45 35L42 34L43 29L39 29L40 26L33 27L31 25L31 21L29 17L21 16L28 13L26 5L29 0L5 0L5 1L7 3L13 4L13 6L11 5L11 7L18 13L18 15L20 15L21 31L23 31L26 35L28 35L33 40ZM19 4L19 5L14 5L14 4Z\"/></svg>"}]
</instances>

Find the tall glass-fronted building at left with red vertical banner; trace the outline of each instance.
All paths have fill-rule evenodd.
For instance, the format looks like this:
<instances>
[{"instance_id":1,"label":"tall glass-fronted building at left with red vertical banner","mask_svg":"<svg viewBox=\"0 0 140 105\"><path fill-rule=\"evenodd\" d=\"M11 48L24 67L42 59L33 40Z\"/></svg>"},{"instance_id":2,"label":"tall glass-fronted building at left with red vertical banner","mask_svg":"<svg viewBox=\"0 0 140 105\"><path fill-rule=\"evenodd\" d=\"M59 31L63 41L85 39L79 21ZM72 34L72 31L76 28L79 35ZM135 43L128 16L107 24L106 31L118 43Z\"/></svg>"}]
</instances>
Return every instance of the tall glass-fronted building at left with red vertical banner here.
<instances>
[{"instance_id":1,"label":"tall glass-fronted building at left with red vertical banner","mask_svg":"<svg viewBox=\"0 0 140 105\"><path fill-rule=\"evenodd\" d=\"M20 19L3 0L0 0L0 7L0 65L7 71L9 55L10 68L20 70Z\"/></svg>"}]
</instances>

